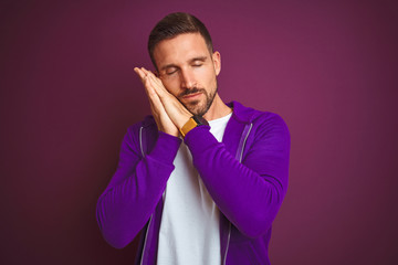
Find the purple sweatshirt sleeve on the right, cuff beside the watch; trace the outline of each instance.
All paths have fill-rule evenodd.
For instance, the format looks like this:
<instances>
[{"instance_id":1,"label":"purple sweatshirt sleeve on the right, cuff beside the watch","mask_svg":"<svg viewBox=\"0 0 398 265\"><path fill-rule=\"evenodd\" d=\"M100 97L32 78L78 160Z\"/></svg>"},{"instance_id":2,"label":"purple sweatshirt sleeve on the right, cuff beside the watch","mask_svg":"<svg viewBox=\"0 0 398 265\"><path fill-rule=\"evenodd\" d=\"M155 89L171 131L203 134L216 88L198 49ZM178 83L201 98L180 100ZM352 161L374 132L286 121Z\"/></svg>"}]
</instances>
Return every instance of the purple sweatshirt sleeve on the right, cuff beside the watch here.
<instances>
[{"instance_id":1,"label":"purple sweatshirt sleeve on the right, cuff beside the watch","mask_svg":"<svg viewBox=\"0 0 398 265\"><path fill-rule=\"evenodd\" d=\"M185 138L193 165L227 219L249 237L271 227L287 189L290 135L277 115L251 131L254 139L239 162L209 131L199 126Z\"/></svg>"}]
</instances>

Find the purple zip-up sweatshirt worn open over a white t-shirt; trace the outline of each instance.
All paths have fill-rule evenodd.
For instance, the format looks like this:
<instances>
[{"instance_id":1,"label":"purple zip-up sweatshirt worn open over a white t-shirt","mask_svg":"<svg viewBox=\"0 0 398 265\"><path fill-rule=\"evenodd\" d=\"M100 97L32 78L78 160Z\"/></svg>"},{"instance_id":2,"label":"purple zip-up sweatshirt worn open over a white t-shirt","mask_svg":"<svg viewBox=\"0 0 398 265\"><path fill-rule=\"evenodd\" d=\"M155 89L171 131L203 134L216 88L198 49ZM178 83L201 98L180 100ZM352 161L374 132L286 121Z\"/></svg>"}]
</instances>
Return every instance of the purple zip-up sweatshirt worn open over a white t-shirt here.
<instances>
[{"instance_id":1,"label":"purple zip-up sweatshirt worn open over a white t-shirt","mask_svg":"<svg viewBox=\"0 0 398 265\"><path fill-rule=\"evenodd\" d=\"M233 102L222 142L209 126L190 130L185 142L157 130L148 116L128 128L117 170L97 202L97 222L114 247L143 230L137 264L156 264L163 193L179 145L220 210L222 264L270 264L271 224L287 189L290 135L276 114Z\"/></svg>"}]
</instances>

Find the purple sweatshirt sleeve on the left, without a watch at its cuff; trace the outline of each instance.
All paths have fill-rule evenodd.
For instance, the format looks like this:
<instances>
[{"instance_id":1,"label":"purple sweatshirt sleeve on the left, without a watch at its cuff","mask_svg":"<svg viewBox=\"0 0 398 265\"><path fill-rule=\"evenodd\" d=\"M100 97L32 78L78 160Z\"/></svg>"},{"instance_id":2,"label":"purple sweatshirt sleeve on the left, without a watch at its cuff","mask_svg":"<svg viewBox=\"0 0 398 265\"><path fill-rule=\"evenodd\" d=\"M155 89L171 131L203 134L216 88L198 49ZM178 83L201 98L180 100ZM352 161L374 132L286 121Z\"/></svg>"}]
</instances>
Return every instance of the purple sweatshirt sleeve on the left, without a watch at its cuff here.
<instances>
[{"instance_id":1,"label":"purple sweatshirt sleeve on the left, without a watch at its cuff","mask_svg":"<svg viewBox=\"0 0 398 265\"><path fill-rule=\"evenodd\" d=\"M115 174L100 197L96 218L104 239L114 247L129 244L148 222L167 180L181 140L159 132L154 149L142 156L133 129L125 135Z\"/></svg>"}]
</instances>

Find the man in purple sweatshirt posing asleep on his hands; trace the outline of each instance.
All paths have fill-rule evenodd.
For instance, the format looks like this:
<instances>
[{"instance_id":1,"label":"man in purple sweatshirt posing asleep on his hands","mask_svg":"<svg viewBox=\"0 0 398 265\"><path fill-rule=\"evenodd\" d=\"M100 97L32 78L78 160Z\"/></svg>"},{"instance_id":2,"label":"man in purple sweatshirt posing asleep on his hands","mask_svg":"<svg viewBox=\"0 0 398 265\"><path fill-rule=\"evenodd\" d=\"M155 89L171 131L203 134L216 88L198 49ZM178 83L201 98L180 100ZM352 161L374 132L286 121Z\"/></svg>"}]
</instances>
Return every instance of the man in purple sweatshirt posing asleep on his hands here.
<instances>
[{"instance_id":1,"label":"man in purple sweatshirt posing asleep on his hands","mask_svg":"<svg viewBox=\"0 0 398 265\"><path fill-rule=\"evenodd\" d=\"M156 75L135 68L153 115L128 129L97 221L118 248L142 231L137 264L270 263L287 189L287 127L221 100L212 49L197 18L171 13L149 35Z\"/></svg>"}]
</instances>

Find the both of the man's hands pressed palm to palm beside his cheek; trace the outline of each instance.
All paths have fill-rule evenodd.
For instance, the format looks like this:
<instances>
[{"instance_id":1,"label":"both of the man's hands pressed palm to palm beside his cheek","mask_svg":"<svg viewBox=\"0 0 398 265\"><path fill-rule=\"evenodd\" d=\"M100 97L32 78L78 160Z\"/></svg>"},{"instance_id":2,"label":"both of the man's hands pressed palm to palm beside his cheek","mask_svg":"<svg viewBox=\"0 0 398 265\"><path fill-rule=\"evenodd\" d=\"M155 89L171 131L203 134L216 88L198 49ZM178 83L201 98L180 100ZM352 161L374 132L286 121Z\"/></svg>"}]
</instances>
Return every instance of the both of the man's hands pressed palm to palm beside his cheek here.
<instances>
[{"instance_id":1,"label":"both of the man's hands pressed palm to palm beside his cheek","mask_svg":"<svg viewBox=\"0 0 398 265\"><path fill-rule=\"evenodd\" d=\"M135 67L134 71L144 84L158 129L178 137L178 129L188 121L192 114L166 89L154 73L144 67Z\"/></svg>"}]
</instances>

